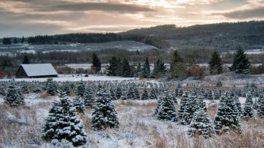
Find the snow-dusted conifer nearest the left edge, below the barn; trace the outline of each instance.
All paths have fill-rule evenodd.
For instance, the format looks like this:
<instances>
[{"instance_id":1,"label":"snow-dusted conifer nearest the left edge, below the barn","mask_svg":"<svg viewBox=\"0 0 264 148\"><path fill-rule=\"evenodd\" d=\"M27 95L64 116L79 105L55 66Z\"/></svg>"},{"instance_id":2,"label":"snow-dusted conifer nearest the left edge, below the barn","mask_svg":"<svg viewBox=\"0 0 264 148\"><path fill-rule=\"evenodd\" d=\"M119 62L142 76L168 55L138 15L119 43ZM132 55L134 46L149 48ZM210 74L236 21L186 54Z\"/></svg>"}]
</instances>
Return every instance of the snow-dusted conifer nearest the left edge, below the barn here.
<instances>
[{"instance_id":1,"label":"snow-dusted conifer nearest the left edge, below the barn","mask_svg":"<svg viewBox=\"0 0 264 148\"><path fill-rule=\"evenodd\" d=\"M21 96L17 86L13 82L11 82L10 85L8 86L8 91L5 94L3 100L9 106L14 106L14 107L25 104L23 97Z\"/></svg>"}]
</instances>

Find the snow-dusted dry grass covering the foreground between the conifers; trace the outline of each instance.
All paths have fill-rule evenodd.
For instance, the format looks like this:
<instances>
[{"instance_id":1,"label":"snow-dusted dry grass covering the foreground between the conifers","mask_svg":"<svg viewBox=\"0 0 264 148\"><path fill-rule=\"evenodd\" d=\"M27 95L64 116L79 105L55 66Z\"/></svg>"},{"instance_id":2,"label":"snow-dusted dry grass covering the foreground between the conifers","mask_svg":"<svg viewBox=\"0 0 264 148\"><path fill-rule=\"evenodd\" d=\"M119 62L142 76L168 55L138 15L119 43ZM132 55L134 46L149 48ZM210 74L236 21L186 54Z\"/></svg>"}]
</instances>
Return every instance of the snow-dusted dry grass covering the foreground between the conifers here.
<instances>
[{"instance_id":1,"label":"snow-dusted dry grass covering the foreground between the conifers","mask_svg":"<svg viewBox=\"0 0 264 148\"><path fill-rule=\"evenodd\" d=\"M6 106L0 97L0 147L52 147L41 139L41 130L52 102L58 97L45 93L30 93L24 97L25 106L19 108ZM245 98L239 100L243 104ZM211 101L206 100L206 103L213 119L217 108L209 106ZM157 120L153 116L155 104L156 100L115 101L120 128L104 131L91 130L91 108L87 108L85 114L80 115L87 133L85 147L264 147L264 119L242 121L242 134L230 132L208 139L190 138L186 134L187 125Z\"/></svg>"}]
</instances>

